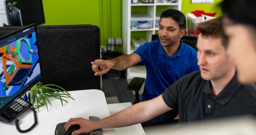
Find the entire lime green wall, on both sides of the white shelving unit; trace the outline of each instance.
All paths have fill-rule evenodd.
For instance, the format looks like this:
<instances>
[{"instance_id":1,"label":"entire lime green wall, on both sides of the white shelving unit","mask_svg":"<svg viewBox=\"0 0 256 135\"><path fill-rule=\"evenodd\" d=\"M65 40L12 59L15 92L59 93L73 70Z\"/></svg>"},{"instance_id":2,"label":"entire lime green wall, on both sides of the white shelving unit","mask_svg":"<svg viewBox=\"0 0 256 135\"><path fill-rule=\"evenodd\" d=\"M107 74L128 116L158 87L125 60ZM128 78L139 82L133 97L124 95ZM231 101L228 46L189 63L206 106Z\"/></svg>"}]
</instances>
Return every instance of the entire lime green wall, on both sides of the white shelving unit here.
<instances>
[{"instance_id":1,"label":"entire lime green wall, on both sides of the white shelving unit","mask_svg":"<svg viewBox=\"0 0 256 135\"><path fill-rule=\"evenodd\" d=\"M183 0L183 13L194 10L217 12L221 16L218 3L191 4L191 0ZM107 38L122 37L122 0L42 0L46 23L44 25L97 25L101 30L101 45L107 45ZM168 9L168 6L157 6L157 12ZM132 7L132 12L146 13L146 6ZM145 32L134 32L133 35L145 38ZM122 47L118 47L122 51Z\"/></svg>"}]
</instances>

